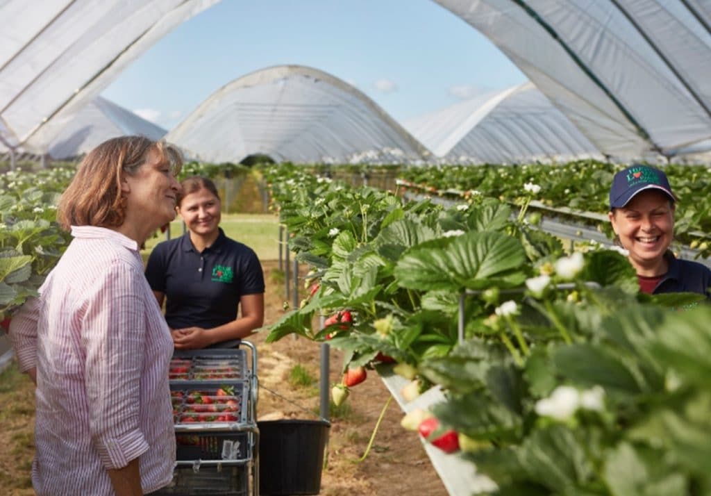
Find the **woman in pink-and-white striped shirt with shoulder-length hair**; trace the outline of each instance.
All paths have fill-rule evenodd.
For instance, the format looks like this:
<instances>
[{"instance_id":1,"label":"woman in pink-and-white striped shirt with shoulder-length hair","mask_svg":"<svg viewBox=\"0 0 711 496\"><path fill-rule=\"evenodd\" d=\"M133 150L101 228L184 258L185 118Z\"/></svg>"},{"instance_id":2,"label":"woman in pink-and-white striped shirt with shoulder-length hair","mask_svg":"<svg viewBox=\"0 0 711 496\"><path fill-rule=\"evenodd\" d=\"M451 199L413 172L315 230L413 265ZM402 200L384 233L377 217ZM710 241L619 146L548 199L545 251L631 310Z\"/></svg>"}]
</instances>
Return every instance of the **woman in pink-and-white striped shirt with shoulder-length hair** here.
<instances>
[{"instance_id":1,"label":"woman in pink-and-white striped shirt with shoulder-length hair","mask_svg":"<svg viewBox=\"0 0 711 496\"><path fill-rule=\"evenodd\" d=\"M60 200L73 241L10 329L37 384L38 495L143 495L171 481L173 341L139 247L176 215L181 162L164 142L109 139Z\"/></svg>"}]
</instances>

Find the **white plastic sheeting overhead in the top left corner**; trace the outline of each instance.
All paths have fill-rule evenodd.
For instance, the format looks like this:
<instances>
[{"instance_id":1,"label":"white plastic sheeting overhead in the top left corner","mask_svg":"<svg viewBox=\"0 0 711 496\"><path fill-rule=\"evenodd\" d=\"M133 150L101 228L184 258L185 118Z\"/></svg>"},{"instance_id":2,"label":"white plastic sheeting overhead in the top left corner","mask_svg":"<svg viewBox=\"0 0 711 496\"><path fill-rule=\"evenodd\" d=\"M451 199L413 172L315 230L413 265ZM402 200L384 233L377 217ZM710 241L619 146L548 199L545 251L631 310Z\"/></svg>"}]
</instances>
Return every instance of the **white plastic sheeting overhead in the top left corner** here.
<instances>
[{"instance_id":1,"label":"white plastic sheeting overhead in the top left corner","mask_svg":"<svg viewBox=\"0 0 711 496\"><path fill-rule=\"evenodd\" d=\"M45 152L129 62L217 1L0 1L0 142Z\"/></svg>"}]
</instances>

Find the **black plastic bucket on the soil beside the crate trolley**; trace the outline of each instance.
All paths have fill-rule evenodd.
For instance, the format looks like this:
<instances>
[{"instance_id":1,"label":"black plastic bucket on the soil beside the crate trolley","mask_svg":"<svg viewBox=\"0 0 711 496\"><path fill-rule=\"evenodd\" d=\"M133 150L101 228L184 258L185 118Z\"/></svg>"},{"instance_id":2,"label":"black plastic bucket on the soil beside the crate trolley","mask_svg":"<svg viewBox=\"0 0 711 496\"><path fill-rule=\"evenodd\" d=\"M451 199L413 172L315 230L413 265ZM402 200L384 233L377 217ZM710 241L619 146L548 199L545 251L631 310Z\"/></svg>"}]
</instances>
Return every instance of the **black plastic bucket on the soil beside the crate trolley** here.
<instances>
[{"instance_id":1,"label":"black plastic bucket on the soil beside the crate trolley","mask_svg":"<svg viewBox=\"0 0 711 496\"><path fill-rule=\"evenodd\" d=\"M260 495L317 495L331 423L259 421Z\"/></svg>"}]
</instances>

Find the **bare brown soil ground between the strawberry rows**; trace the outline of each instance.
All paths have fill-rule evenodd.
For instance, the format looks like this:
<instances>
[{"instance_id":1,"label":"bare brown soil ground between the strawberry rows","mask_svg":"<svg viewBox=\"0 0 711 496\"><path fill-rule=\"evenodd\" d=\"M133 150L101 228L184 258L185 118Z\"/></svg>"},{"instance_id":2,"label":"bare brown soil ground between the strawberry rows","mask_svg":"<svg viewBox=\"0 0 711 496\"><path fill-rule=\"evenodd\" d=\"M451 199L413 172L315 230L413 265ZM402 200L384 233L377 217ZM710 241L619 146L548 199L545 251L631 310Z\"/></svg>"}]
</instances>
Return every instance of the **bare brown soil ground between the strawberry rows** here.
<instances>
[{"instance_id":1,"label":"bare brown soil ground between the strawberry rows","mask_svg":"<svg viewBox=\"0 0 711 496\"><path fill-rule=\"evenodd\" d=\"M284 284L274 277L278 263L267 261L263 265L267 283L265 324L271 324L283 315L282 305L286 298ZM266 344L266 337L267 332L250 337L250 341L257 345L257 372L262 386L257 417L317 418L309 412L319 411L318 383L298 386L289 381L289 376L294 366L300 365L306 369L307 375L318 379L319 344L292 336ZM342 363L341 353L331 349L331 384L340 381ZM33 495L29 477L34 449L32 384L14 370L6 371L1 379L0 494ZM387 408L368 457L358 461L389 397L378 374L371 371L368 379L351 391L348 398L350 407L340 408L338 416L331 416L321 495L447 495L417 435L400 426L403 413L395 401Z\"/></svg>"}]
</instances>

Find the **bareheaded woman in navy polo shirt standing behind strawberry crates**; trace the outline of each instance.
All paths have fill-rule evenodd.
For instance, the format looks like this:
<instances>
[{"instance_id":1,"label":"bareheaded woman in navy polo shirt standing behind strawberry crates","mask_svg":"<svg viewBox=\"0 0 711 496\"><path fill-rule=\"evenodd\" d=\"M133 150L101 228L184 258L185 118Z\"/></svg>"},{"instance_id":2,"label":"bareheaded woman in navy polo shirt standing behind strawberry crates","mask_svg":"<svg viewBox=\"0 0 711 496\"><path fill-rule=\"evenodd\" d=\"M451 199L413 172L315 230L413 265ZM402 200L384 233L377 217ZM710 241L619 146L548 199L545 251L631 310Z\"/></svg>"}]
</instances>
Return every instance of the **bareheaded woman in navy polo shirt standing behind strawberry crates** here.
<instances>
[{"instance_id":1,"label":"bareheaded woman in navy polo shirt standing behind strawberry crates","mask_svg":"<svg viewBox=\"0 0 711 496\"><path fill-rule=\"evenodd\" d=\"M166 302L176 349L233 347L264 322L262 265L220 228L213 181L190 177L181 185L177 209L188 232L154 248L146 278L159 305Z\"/></svg>"}]
</instances>

